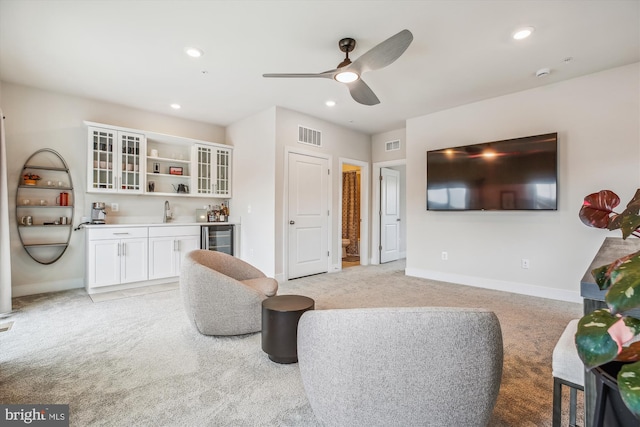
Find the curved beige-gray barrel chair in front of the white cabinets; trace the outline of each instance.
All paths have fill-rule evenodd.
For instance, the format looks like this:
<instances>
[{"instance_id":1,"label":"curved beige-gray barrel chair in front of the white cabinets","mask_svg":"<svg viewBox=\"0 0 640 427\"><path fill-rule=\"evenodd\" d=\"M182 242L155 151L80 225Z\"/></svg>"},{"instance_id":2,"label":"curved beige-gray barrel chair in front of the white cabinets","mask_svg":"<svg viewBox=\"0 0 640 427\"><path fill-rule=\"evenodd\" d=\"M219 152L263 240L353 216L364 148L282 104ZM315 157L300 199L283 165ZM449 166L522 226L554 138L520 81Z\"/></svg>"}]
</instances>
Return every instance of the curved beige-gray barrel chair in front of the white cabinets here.
<instances>
[{"instance_id":1,"label":"curved beige-gray barrel chair in front of the white cabinets","mask_svg":"<svg viewBox=\"0 0 640 427\"><path fill-rule=\"evenodd\" d=\"M241 335L262 328L262 300L278 282L222 252L189 252L180 269L180 293L191 323L203 335Z\"/></svg>"}]
</instances>

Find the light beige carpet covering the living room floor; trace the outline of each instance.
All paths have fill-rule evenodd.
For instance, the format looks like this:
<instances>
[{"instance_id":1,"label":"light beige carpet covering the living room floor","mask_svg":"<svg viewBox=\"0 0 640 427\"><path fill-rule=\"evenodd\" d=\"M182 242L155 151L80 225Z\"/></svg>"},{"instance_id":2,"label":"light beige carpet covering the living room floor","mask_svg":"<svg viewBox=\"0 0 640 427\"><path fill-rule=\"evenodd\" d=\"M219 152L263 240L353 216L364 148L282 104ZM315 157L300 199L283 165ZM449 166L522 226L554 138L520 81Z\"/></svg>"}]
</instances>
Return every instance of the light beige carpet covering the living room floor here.
<instances>
[{"instance_id":1,"label":"light beige carpet covering the living room floor","mask_svg":"<svg viewBox=\"0 0 640 427\"><path fill-rule=\"evenodd\" d=\"M402 261L293 280L279 293L309 296L316 309L493 310L505 350L491 423L498 427L551 426L551 353L582 311L580 304L406 277ZM177 289L100 303L72 290L16 298L14 308L3 320L13 327L0 333L2 403L68 403L72 426L317 425L297 364L271 362L259 333L198 334Z\"/></svg>"}]
</instances>

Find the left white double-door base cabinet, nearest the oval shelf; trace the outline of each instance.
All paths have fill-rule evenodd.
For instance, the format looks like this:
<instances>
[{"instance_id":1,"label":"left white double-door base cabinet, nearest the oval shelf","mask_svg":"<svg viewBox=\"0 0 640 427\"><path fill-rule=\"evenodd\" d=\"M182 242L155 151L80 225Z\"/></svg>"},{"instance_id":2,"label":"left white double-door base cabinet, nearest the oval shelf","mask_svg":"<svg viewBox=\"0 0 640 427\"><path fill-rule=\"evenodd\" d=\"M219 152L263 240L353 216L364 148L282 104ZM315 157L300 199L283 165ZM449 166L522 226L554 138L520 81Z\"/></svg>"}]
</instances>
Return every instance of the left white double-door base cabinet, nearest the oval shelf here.
<instances>
[{"instance_id":1,"label":"left white double-door base cabinet, nearest the oval shelf","mask_svg":"<svg viewBox=\"0 0 640 427\"><path fill-rule=\"evenodd\" d=\"M147 227L87 230L87 287L147 280Z\"/></svg>"}]
</instances>

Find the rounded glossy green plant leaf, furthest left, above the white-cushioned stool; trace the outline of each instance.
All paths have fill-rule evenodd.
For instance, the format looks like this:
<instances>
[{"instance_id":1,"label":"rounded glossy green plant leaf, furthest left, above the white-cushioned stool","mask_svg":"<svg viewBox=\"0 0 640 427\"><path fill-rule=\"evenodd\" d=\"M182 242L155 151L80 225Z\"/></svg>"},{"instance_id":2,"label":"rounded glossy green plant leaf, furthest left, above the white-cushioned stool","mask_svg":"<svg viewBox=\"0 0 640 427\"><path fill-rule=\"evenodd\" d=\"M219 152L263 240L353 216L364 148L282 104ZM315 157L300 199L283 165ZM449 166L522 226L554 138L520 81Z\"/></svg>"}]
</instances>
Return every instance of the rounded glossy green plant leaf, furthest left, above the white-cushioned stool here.
<instances>
[{"instance_id":1,"label":"rounded glossy green plant leaf, furthest left, above the white-cushioned stool","mask_svg":"<svg viewBox=\"0 0 640 427\"><path fill-rule=\"evenodd\" d=\"M619 317L606 309L593 311L580 319L575 342L578 355L587 369L610 362L618 355L618 344L609 335L609 328Z\"/></svg>"}]
</instances>

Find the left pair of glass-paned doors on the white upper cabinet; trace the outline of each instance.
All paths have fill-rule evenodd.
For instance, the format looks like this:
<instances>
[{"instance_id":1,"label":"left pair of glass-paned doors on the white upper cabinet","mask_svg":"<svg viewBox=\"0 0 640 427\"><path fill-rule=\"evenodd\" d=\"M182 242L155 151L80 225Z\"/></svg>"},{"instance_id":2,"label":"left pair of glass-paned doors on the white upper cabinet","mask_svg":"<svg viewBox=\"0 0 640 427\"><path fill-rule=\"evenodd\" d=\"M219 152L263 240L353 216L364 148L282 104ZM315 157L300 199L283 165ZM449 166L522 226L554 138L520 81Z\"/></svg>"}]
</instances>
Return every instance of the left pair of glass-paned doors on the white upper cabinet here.
<instances>
[{"instance_id":1,"label":"left pair of glass-paned doors on the white upper cabinet","mask_svg":"<svg viewBox=\"0 0 640 427\"><path fill-rule=\"evenodd\" d=\"M142 193L144 135L89 127L88 151L88 192Z\"/></svg>"}]
</instances>

